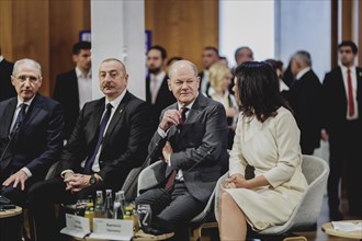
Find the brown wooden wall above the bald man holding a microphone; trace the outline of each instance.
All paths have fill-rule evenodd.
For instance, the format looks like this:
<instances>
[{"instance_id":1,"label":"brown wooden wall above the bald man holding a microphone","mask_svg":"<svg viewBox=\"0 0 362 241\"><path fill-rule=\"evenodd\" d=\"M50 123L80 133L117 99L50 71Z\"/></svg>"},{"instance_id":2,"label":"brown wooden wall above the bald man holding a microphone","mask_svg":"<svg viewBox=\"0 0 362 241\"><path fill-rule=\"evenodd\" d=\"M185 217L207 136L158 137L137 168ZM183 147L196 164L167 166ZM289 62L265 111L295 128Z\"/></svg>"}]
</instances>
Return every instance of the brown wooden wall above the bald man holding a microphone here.
<instances>
[{"instance_id":1,"label":"brown wooden wall above the bald man holding a microphone","mask_svg":"<svg viewBox=\"0 0 362 241\"><path fill-rule=\"evenodd\" d=\"M152 45L169 57L180 56L202 69L205 46L218 47L218 0L145 0L146 30Z\"/></svg>"}]
</instances>

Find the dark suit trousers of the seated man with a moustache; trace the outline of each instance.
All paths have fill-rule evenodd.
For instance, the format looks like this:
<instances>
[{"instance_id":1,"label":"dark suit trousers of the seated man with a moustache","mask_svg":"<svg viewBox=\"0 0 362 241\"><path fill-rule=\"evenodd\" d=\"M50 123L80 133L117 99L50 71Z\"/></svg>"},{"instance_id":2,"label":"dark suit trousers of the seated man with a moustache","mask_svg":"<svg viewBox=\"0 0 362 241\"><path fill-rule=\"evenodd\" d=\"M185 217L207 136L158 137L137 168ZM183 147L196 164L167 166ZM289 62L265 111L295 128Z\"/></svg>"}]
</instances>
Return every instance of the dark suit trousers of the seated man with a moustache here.
<instances>
[{"instance_id":1,"label":"dark suit trousers of the seated man with a moustache","mask_svg":"<svg viewBox=\"0 0 362 241\"><path fill-rule=\"evenodd\" d=\"M77 199L94 196L95 191L108 188L103 182L95 183L72 194L66 191L60 176L34 184L29 191L30 208L34 214L37 240L59 240L59 231L65 227L64 217L55 216L55 204L75 204Z\"/></svg>"}]
</instances>

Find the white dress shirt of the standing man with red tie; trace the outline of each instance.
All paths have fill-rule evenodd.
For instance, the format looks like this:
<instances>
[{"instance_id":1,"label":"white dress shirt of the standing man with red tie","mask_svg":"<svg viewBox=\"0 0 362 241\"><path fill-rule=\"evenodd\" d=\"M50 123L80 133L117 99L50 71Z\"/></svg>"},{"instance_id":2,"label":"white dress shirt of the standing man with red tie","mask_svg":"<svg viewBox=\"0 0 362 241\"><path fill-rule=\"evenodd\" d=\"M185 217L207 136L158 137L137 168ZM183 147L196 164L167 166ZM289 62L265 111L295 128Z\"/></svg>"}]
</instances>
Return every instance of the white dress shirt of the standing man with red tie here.
<instances>
[{"instance_id":1,"label":"white dress shirt of the standing man with red tie","mask_svg":"<svg viewBox=\"0 0 362 241\"><path fill-rule=\"evenodd\" d=\"M359 106L357 102L357 72L355 72L355 66L350 67L351 70L351 80L352 80L352 93L353 93L353 105L354 105L354 115L350 116L349 115L349 95L348 95L348 68L343 65L340 65L341 71L342 71L342 77L343 77L343 84L344 84L344 90L346 90L346 96L347 96L347 113L346 113L346 118L349 120L352 119L358 119L359 118Z\"/></svg>"}]
</instances>

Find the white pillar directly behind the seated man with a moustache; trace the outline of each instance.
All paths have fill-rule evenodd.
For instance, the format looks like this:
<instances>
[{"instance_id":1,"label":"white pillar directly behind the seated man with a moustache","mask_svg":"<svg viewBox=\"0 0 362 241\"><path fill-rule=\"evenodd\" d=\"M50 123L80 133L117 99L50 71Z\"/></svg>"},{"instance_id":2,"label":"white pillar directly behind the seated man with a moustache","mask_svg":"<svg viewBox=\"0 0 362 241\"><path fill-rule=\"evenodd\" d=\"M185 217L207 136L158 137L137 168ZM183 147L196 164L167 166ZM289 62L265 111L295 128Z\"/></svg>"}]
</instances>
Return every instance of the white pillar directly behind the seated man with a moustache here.
<instances>
[{"instance_id":1,"label":"white pillar directly behind the seated man with a moustache","mask_svg":"<svg viewBox=\"0 0 362 241\"><path fill-rule=\"evenodd\" d=\"M145 100L145 4L144 0L91 0L92 96L103 96L98 71L105 58L124 61L129 74L127 89Z\"/></svg>"}]
</instances>

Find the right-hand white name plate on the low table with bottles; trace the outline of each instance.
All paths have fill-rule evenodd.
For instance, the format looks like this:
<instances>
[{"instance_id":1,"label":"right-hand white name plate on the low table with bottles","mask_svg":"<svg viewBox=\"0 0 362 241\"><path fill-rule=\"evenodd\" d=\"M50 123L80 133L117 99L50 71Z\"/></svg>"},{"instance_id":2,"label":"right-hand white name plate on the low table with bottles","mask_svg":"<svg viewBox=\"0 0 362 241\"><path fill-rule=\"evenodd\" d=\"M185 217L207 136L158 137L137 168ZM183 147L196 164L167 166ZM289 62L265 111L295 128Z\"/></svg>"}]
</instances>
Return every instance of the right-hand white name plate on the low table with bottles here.
<instances>
[{"instance_id":1,"label":"right-hand white name plate on the low table with bottles","mask_svg":"<svg viewBox=\"0 0 362 241\"><path fill-rule=\"evenodd\" d=\"M94 218L93 232L89 237L94 239L129 241L133 237L133 221Z\"/></svg>"}]
</instances>

